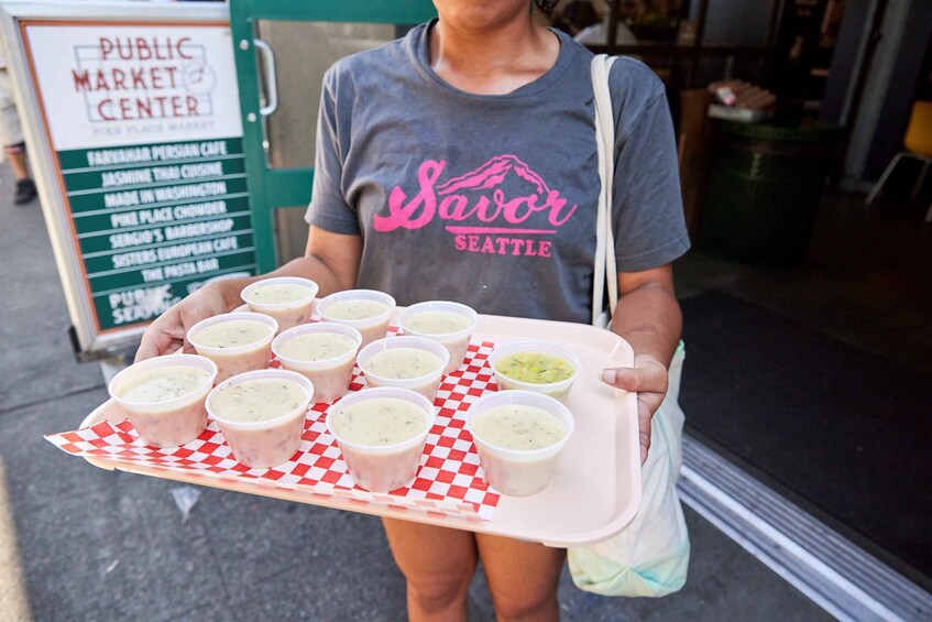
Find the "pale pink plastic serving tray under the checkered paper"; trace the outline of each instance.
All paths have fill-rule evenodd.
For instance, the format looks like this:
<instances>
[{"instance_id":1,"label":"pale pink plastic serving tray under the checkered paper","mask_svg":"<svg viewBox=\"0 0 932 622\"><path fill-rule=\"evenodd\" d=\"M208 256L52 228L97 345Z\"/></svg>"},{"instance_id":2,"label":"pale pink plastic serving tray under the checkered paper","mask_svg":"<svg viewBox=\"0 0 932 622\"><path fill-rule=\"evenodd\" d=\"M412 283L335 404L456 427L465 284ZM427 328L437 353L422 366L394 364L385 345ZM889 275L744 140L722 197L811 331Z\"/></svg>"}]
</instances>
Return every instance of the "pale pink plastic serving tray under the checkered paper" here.
<instances>
[{"instance_id":1,"label":"pale pink plastic serving tray under the checkered paper","mask_svg":"<svg viewBox=\"0 0 932 622\"><path fill-rule=\"evenodd\" d=\"M418 500L401 503L402 500L395 498L399 503L393 503L391 495L374 499L359 489L289 488L270 485L267 481L257 481L243 473L218 477L210 471L165 469L119 458L85 456L85 459L108 470L516 537L548 546L580 546L604 541L622 531L640 504L636 396L614 390L599 379L605 367L631 365L634 358L631 347L614 334L585 325L497 316L480 316L472 343L489 346L516 339L545 339L562 345L574 351L583 363L567 402L575 417L575 432L560 456L550 484L533 496L498 496L494 490L485 490L481 470L472 484L474 490L471 488L465 499L474 502L472 506L464 508L456 499L439 503L425 500L420 506ZM491 382L494 386L494 380ZM81 428L101 422L118 424L124 418L119 406L108 401L81 423ZM114 432L119 434L119 429ZM468 456L464 461L470 462L470 459ZM459 499L463 500L461 495Z\"/></svg>"}]
</instances>

